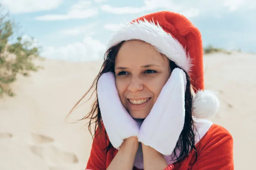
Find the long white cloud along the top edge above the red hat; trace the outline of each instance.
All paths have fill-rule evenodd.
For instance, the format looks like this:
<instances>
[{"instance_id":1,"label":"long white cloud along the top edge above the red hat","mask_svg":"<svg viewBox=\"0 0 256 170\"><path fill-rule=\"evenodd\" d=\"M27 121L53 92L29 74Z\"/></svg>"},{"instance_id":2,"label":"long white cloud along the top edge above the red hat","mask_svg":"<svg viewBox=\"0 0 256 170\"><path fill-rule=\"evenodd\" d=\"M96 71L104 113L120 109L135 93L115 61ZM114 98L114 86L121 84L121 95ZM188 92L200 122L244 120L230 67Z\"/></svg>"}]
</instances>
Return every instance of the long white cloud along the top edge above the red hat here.
<instances>
[{"instance_id":1,"label":"long white cloud along the top edge above the red hat","mask_svg":"<svg viewBox=\"0 0 256 170\"><path fill-rule=\"evenodd\" d=\"M138 14L146 11L153 11L157 8L164 8L168 11L175 11L186 17L195 17L201 13L235 11L256 8L255 0L144 0L141 7L113 7L102 5L102 11L113 14Z\"/></svg>"}]
</instances>

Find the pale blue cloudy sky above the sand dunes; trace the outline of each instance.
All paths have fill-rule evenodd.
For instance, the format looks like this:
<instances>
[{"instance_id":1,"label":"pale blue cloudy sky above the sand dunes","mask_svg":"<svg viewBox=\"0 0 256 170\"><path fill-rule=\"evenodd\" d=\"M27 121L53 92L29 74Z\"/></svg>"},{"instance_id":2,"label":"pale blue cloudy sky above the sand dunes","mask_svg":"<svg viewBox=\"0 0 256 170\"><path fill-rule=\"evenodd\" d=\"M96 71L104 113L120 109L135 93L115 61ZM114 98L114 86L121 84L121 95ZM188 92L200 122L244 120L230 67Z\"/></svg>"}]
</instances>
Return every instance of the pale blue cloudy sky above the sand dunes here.
<instances>
[{"instance_id":1,"label":"pale blue cloudy sky above the sand dunes","mask_svg":"<svg viewBox=\"0 0 256 170\"><path fill-rule=\"evenodd\" d=\"M185 15L203 45L256 52L255 0L0 0L23 38L34 38L41 56L68 61L102 59L111 34L157 11Z\"/></svg>"}]
</instances>

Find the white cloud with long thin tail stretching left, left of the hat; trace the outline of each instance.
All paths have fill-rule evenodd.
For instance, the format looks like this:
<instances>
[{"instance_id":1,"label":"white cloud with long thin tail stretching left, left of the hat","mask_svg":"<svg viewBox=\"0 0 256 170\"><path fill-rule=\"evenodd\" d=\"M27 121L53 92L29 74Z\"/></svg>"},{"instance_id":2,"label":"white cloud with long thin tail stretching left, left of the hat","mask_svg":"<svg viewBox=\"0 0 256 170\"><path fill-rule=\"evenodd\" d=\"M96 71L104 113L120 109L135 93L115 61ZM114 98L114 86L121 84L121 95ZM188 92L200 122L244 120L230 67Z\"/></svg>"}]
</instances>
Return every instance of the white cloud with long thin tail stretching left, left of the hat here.
<instances>
[{"instance_id":1,"label":"white cloud with long thin tail stretching left, left of the hat","mask_svg":"<svg viewBox=\"0 0 256 170\"><path fill-rule=\"evenodd\" d=\"M98 14L98 8L92 7L90 1L80 0L71 6L67 14L48 14L36 17L36 20L69 20L93 17Z\"/></svg>"}]
</instances>

